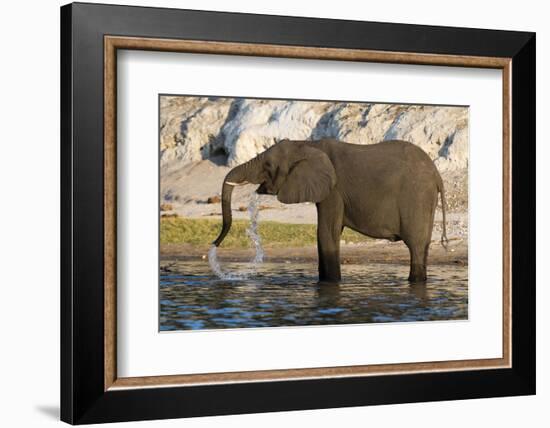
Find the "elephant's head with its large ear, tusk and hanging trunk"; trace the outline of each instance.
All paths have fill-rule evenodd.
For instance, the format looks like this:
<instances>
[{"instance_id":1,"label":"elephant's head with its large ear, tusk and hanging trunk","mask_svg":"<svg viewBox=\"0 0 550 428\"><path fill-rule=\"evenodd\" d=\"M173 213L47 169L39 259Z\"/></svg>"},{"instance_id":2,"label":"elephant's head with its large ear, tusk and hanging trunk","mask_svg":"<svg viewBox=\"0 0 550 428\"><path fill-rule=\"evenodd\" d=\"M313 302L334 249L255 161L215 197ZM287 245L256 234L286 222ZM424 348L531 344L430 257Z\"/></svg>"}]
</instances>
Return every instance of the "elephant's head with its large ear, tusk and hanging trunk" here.
<instances>
[{"instance_id":1,"label":"elephant's head with its large ear, tusk and hanging trunk","mask_svg":"<svg viewBox=\"0 0 550 428\"><path fill-rule=\"evenodd\" d=\"M219 246L231 228L234 186L259 184L259 194L276 195L285 204L320 202L336 184L336 173L325 152L306 141L283 140L248 162L233 168L223 181L223 225Z\"/></svg>"}]
</instances>

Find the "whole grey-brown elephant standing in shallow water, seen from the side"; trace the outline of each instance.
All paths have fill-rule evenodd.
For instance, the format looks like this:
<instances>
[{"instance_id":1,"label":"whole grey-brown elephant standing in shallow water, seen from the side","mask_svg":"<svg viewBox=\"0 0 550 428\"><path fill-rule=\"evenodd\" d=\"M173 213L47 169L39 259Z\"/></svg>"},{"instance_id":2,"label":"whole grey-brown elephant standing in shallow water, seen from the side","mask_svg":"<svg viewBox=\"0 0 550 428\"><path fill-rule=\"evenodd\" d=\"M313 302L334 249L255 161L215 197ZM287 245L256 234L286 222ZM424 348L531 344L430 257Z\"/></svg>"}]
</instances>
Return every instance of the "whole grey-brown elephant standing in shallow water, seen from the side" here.
<instances>
[{"instance_id":1,"label":"whole grey-brown elephant standing in shallow water, seen from the side","mask_svg":"<svg viewBox=\"0 0 550 428\"><path fill-rule=\"evenodd\" d=\"M259 194L285 204L315 202L320 282L339 282L340 236L344 227L372 238L403 241L409 248L410 282L426 281L426 262L441 176L428 155L405 141L372 145L335 140L275 144L233 168L222 188L223 226L219 246L231 227L231 192L259 184Z\"/></svg>"}]
</instances>

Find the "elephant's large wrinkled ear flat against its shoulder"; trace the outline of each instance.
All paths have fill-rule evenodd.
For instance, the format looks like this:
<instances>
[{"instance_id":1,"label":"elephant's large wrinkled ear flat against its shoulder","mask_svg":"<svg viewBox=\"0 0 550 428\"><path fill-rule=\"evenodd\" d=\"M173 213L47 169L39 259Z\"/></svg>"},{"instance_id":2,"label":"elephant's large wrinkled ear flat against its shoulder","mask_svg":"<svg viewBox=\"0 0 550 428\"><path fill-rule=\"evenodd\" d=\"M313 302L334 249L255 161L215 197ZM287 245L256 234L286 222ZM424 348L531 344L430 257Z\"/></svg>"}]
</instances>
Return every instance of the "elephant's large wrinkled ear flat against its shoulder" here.
<instances>
[{"instance_id":1,"label":"elephant's large wrinkled ear flat against its shoulder","mask_svg":"<svg viewBox=\"0 0 550 428\"><path fill-rule=\"evenodd\" d=\"M293 143L295 144L295 143ZM290 168L277 193L285 204L320 202L336 185L336 172L328 156L311 146L290 150Z\"/></svg>"}]
</instances>

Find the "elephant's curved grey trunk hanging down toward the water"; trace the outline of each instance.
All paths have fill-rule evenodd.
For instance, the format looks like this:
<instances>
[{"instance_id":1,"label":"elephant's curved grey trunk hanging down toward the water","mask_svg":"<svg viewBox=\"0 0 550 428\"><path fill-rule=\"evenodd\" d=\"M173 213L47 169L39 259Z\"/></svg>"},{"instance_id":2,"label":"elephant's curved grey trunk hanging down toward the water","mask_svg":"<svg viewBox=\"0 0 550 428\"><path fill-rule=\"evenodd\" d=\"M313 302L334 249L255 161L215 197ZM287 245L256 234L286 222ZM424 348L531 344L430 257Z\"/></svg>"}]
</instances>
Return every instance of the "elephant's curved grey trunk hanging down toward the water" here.
<instances>
[{"instance_id":1,"label":"elephant's curved grey trunk hanging down toward the water","mask_svg":"<svg viewBox=\"0 0 550 428\"><path fill-rule=\"evenodd\" d=\"M225 236L231 229L233 216L231 214L231 195L233 187L241 186L248 183L259 184L260 162L258 158L254 158L242 165L233 168L225 179L222 186L222 230L213 244L219 247Z\"/></svg>"}]
</instances>

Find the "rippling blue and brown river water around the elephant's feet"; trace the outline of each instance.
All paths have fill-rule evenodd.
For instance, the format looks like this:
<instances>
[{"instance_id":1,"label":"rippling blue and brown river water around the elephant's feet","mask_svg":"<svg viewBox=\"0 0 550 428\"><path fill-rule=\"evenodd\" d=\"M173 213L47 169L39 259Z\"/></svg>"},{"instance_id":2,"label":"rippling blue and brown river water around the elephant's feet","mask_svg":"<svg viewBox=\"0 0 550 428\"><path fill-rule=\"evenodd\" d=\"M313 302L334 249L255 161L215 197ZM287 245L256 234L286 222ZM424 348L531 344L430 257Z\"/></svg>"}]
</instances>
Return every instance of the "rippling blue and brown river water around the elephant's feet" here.
<instances>
[{"instance_id":1,"label":"rippling blue and brown river water around the elephant's feet","mask_svg":"<svg viewBox=\"0 0 550 428\"><path fill-rule=\"evenodd\" d=\"M342 269L340 285L318 285L314 264L264 263L249 279L220 280L204 262L162 262L160 330L468 318L467 266L430 266L428 282L412 286L407 266Z\"/></svg>"}]
</instances>

